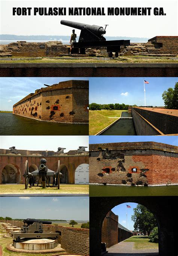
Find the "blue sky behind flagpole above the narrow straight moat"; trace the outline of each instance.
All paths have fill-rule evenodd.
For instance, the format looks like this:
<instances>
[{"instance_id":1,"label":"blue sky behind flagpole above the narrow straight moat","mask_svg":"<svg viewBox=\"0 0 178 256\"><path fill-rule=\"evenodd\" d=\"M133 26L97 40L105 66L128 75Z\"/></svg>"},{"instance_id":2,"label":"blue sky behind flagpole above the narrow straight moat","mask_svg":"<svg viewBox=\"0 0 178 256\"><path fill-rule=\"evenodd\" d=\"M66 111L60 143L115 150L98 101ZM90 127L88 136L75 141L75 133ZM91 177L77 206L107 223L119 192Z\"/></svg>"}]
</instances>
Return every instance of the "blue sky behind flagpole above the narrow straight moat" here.
<instances>
[{"instance_id":1,"label":"blue sky behind flagpole above the narrow straight moat","mask_svg":"<svg viewBox=\"0 0 178 256\"><path fill-rule=\"evenodd\" d=\"M162 94L174 87L176 77L101 77L90 78L89 103L125 103L144 106L143 80L145 84L146 105L164 106Z\"/></svg>"}]
</instances>

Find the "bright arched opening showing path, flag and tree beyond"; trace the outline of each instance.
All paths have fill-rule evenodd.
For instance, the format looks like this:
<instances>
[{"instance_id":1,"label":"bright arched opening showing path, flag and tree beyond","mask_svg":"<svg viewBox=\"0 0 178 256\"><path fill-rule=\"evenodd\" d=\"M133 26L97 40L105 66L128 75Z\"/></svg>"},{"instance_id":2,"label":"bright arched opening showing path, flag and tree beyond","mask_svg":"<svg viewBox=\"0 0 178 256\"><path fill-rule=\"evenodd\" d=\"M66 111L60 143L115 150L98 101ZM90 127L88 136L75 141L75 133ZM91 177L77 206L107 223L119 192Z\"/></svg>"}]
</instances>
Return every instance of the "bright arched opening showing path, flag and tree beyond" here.
<instances>
[{"instance_id":1,"label":"bright arched opening showing path, flag and tree beyond","mask_svg":"<svg viewBox=\"0 0 178 256\"><path fill-rule=\"evenodd\" d=\"M146 222L142 215L149 221ZM116 205L106 214L102 224L102 252L108 251L112 256L131 252L143 255L144 250L146 255L158 255L158 243L152 243L148 238L148 233L157 226L154 215L145 206L132 202Z\"/></svg>"}]
</instances>

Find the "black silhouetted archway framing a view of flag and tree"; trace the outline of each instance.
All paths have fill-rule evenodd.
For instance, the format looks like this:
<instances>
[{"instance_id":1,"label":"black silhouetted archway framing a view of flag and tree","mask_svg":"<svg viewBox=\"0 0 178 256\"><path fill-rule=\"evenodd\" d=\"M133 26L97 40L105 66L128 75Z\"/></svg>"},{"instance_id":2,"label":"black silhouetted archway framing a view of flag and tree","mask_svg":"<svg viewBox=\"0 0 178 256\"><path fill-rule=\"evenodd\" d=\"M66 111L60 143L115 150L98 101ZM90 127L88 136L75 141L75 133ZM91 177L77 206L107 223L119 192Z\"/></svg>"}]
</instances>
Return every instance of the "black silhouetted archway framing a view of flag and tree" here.
<instances>
[{"instance_id":1,"label":"black silhouetted archway framing a view of flag and tree","mask_svg":"<svg viewBox=\"0 0 178 256\"><path fill-rule=\"evenodd\" d=\"M159 255L175 256L177 248L176 197L90 197L90 256L101 255L101 229L105 216L116 205L135 202L147 207L158 223Z\"/></svg>"}]
</instances>

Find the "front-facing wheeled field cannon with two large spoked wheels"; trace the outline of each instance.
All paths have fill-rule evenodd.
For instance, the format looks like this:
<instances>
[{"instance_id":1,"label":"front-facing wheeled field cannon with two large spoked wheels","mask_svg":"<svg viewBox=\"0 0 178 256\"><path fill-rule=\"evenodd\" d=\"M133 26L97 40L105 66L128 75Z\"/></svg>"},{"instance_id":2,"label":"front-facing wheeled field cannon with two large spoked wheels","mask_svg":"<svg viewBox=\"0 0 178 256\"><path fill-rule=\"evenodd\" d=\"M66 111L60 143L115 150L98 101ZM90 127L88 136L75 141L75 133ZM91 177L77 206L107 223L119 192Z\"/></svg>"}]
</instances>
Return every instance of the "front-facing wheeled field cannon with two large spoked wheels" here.
<instances>
[{"instance_id":1,"label":"front-facing wheeled field cannon with two large spoked wheels","mask_svg":"<svg viewBox=\"0 0 178 256\"><path fill-rule=\"evenodd\" d=\"M37 186L41 184L43 188L45 187L57 187L60 189L60 178L63 177L63 174L60 173L60 160L58 160L58 167L57 167L57 172L54 172L46 166L46 159L42 158L40 160L40 165L38 166L38 169L29 172L29 162L26 160L25 162L25 172L24 172L24 178L25 178L25 189L28 188L28 184L30 186L35 186L34 179L38 178ZM50 185L51 183L51 178L53 179L53 184Z\"/></svg>"}]
</instances>

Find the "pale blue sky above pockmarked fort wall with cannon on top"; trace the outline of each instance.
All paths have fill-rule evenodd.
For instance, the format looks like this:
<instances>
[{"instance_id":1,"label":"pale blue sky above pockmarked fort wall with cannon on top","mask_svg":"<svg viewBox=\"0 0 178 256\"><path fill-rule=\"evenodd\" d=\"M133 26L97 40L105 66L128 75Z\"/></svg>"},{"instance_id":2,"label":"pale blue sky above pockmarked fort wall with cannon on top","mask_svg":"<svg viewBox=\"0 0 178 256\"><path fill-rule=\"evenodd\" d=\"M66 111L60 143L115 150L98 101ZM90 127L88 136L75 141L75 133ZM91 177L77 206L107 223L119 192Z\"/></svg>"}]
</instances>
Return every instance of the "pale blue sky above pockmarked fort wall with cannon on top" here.
<instances>
[{"instance_id":1,"label":"pale blue sky above pockmarked fort wall with cannon on top","mask_svg":"<svg viewBox=\"0 0 178 256\"><path fill-rule=\"evenodd\" d=\"M12 106L36 89L67 80L88 80L83 77L1 77L0 110L12 111Z\"/></svg>"}]
</instances>

